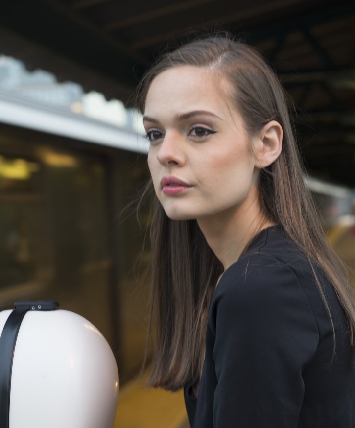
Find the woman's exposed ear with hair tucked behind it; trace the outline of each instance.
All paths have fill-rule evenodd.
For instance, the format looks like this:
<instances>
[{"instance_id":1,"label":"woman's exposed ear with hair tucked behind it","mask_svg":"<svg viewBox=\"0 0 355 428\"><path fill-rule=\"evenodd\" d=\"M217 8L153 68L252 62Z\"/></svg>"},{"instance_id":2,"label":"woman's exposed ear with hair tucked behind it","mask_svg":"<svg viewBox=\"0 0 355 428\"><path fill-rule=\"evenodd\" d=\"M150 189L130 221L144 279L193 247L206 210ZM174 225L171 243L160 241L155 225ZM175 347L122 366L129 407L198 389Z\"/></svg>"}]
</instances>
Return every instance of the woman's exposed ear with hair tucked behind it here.
<instances>
[{"instance_id":1,"label":"woman's exposed ear with hair tucked behind it","mask_svg":"<svg viewBox=\"0 0 355 428\"><path fill-rule=\"evenodd\" d=\"M257 135L256 166L265 168L271 165L280 155L282 150L283 130L279 122L271 120Z\"/></svg>"}]
</instances>

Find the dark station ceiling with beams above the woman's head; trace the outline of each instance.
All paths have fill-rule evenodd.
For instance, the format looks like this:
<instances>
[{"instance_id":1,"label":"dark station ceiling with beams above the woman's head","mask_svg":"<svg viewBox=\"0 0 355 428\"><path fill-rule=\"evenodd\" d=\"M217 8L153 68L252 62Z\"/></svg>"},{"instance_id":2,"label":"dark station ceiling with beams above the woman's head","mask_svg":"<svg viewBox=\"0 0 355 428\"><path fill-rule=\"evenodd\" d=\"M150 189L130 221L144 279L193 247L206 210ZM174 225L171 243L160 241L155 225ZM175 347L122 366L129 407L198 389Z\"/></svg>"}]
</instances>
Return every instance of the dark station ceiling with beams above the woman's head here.
<instances>
[{"instance_id":1,"label":"dark station ceiling with beams above the woman's head","mask_svg":"<svg viewBox=\"0 0 355 428\"><path fill-rule=\"evenodd\" d=\"M354 188L354 1L0 1L0 53L125 102L166 45L215 29L273 65L298 111L308 171Z\"/></svg>"}]
</instances>

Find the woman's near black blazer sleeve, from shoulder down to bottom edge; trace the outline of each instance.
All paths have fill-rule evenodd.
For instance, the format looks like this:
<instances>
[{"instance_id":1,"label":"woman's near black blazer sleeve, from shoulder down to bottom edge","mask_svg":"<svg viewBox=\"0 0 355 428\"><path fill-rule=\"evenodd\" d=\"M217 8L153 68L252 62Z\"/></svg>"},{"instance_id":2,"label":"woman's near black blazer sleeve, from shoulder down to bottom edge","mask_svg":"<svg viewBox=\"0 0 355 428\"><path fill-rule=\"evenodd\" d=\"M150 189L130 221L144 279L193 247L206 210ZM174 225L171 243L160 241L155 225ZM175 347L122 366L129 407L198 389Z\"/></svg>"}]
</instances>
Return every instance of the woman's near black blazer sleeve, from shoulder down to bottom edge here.
<instances>
[{"instance_id":1,"label":"woman's near black blazer sleeve, from shoulder down to bottom edge","mask_svg":"<svg viewBox=\"0 0 355 428\"><path fill-rule=\"evenodd\" d=\"M296 428L302 373L319 341L317 323L291 268L247 267L241 274L225 272L211 305L213 426Z\"/></svg>"}]
</instances>

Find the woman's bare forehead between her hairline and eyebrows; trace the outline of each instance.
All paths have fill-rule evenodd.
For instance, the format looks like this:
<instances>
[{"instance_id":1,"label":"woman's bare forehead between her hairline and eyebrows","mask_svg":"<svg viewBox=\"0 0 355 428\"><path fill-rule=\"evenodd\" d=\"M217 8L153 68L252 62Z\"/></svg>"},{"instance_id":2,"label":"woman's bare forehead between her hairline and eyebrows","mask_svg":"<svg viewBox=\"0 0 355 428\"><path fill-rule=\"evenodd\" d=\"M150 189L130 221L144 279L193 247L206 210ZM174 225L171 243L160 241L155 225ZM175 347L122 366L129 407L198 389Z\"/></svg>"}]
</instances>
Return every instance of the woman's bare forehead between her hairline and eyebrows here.
<instances>
[{"instance_id":1,"label":"woman's bare forehead between her hairline and eyebrows","mask_svg":"<svg viewBox=\"0 0 355 428\"><path fill-rule=\"evenodd\" d=\"M215 70L176 66L158 74L152 81L145 102L144 113L156 115L187 109L218 110L227 113L231 103L232 88L221 73Z\"/></svg>"}]
</instances>

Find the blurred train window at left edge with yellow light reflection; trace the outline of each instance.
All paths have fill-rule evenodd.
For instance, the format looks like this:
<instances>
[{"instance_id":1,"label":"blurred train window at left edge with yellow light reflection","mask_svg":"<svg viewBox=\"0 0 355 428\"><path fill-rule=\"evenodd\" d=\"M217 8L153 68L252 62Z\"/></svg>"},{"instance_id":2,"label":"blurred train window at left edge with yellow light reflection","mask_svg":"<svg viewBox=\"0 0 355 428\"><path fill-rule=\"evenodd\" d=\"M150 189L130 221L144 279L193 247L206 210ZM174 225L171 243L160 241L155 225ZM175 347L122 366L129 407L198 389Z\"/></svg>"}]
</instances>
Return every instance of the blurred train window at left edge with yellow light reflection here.
<instances>
[{"instance_id":1,"label":"blurred train window at left edge with yellow light reflection","mask_svg":"<svg viewBox=\"0 0 355 428\"><path fill-rule=\"evenodd\" d=\"M0 289L30 284L38 271L41 166L0 155Z\"/></svg>"}]
</instances>

